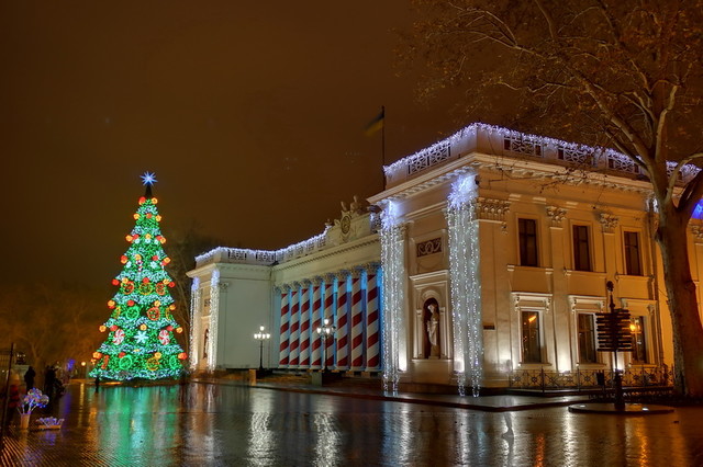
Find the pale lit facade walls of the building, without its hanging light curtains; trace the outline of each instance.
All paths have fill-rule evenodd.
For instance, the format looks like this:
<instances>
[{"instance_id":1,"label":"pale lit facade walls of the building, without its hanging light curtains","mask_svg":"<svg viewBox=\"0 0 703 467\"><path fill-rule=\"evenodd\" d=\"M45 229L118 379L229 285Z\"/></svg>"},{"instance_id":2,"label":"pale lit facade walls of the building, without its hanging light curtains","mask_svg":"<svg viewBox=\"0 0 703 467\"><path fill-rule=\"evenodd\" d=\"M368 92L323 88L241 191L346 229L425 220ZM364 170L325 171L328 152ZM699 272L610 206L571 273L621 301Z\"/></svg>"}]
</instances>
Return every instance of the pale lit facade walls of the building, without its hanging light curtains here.
<instances>
[{"instance_id":1,"label":"pale lit facade walls of the building, without its hanging light curtains","mask_svg":"<svg viewBox=\"0 0 703 467\"><path fill-rule=\"evenodd\" d=\"M478 181L477 197L471 203L480 251L481 386L507 386L515 372L521 371L576 373L610 369L615 363L620 368L672 364L661 261L652 241L655 216L649 184L617 155L472 125L386 170L387 190L368 202L373 210L388 208L392 202L403 236L404 298L397 310L399 342L393 345L397 363L392 363L399 366L401 384L455 385L456 372L462 368L454 354L455 310L446 216L453 183L465 174L473 174ZM535 227L536 260L529 264L521 258L521 223ZM577 265L574 229L588 250L590 267L581 267L588 271L580 271ZM214 271L220 274L220 303L210 308L216 309L219 321L216 360L196 358L194 366L258 366L258 346L252 334L265 324L272 334L265 352L270 355L266 366L287 367L280 357L281 293L301 286L312 291L319 284L323 296L316 316L322 319L325 314L338 314L328 311L337 304L326 304L325 289L334 282L336 291L345 274L369 267L376 271L381 259L378 232L378 216L366 213L355 201L352 209L343 208L334 226L306 242L278 252L219 249L200 257L198 267L189 273L199 277L200 291L194 294L200 303L193 306L193 322L200 323L193 333L200 337L193 338L193 346L202 346L204 327L215 321L204 306L214 291ZM628 242L633 236L638 240L641 267L637 274L626 270L626 236ZM690 247L698 281L703 260L700 220L692 221ZM632 246L628 251L632 253ZM627 308L644 326L645 356L640 361L621 354L614 362L611 353L589 355L585 351L584 324L593 314L609 310L609 281L614 284L616 307ZM386 293L382 288L379 292ZM357 295L364 297L362 293ZM373 306L381 303L378 299ZM354 311L357 315L358 306ZM432 318L434 309L436 315ZM352 312L352 305L348 310ZM380 321L387 312L380 310ZM315 316L314 309L309 315ZM337 317L334 319L336 324ZM533 321L525 321L528 319ZM433 320L434 338L428 328ZM361 339L368 346L366 316L364 321ZM309 328L314 331L315 324L310 322ZM346 332L349 339L352 333L359 334L350 324ZM313 332L310 339L315 335ZM527 345L526 339L537 346ZM334 345L327 349L335 351ZM358 355L359 351L349 349L349 357L353 353ZM191 354L198 355L198 349ZM341 369L350 363L333 362ZM314 363L295 369L319 368ZM382 366L387 364L381 362Z\"/></svg>"}]
</instances>

